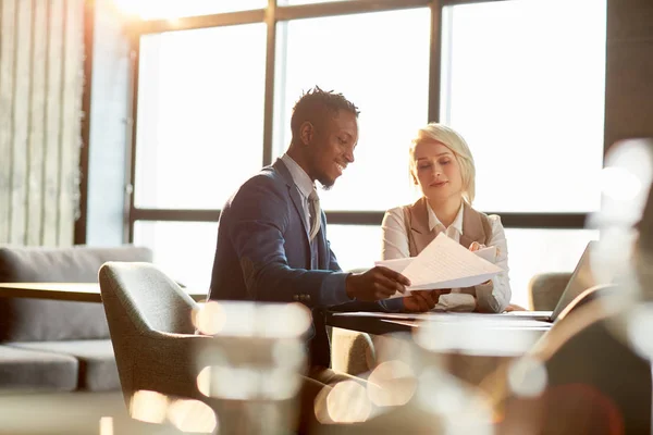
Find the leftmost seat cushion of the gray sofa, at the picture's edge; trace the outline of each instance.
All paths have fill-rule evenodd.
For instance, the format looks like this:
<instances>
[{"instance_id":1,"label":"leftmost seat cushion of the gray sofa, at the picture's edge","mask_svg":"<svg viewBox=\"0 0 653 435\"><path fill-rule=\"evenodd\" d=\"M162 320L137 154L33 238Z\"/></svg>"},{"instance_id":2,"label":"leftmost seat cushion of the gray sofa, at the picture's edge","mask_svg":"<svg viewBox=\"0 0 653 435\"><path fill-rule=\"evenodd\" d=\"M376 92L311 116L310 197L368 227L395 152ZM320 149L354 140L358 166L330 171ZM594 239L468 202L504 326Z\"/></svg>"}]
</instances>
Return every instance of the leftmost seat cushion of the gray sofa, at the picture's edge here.
<instances>
[{"instance_id":1,"label":"leftmost seat cushion of the gray sofa, at the picture's edge","mask_svg":"<svg viewBox=\"0 0 653 435\"><path fill-rule=\"evenodd\" d=\"M77 360L69 355L0 346L0 391L72 391Z\"/></svg>"}]
</instances>

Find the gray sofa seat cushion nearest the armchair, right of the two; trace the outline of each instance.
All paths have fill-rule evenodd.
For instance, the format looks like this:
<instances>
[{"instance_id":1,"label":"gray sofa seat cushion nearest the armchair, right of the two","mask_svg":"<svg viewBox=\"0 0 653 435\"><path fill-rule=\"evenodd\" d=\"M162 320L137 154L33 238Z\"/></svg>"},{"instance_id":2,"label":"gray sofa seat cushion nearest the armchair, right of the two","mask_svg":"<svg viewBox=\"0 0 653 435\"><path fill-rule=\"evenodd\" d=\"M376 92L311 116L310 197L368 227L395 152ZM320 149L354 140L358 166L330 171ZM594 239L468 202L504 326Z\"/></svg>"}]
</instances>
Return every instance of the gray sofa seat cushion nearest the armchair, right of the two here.
<instances>
[{"instance_id":1,"label":"gray sofa seat cushion nearest the armchair, right of the two","mask_svg":"<svg viewBox=\"0 0 653 435\"><path fill-rule=\"evenodd\" d=\"M79 361L78 389L120 390L118 368L110 339L10 343L8 346L74 357Z\"/></svg>"}]
</instances>

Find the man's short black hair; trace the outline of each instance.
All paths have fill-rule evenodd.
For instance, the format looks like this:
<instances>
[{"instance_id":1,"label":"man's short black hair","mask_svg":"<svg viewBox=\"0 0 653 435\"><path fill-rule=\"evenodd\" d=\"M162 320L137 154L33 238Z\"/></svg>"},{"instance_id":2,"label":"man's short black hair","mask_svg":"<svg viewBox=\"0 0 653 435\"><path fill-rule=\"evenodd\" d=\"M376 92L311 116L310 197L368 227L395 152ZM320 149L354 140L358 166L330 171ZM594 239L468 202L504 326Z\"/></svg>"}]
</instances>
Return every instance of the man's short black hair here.
<instances>
[{"instance_id":1,"label":"man's short black hair","mask_svg":"<svg viewBox=\"0 0 653 435\"><path fill-rule=\"evenodd\" d=\"M293 138L299 137L299 127L305 121L309 121L319 128L326 114L335 116L341 110L354 113L356 116L360 113L358 108L340 92L322 90L319 86L309 89L304 92L293 108L291 117Z\"/></svg>"}]
</instances>

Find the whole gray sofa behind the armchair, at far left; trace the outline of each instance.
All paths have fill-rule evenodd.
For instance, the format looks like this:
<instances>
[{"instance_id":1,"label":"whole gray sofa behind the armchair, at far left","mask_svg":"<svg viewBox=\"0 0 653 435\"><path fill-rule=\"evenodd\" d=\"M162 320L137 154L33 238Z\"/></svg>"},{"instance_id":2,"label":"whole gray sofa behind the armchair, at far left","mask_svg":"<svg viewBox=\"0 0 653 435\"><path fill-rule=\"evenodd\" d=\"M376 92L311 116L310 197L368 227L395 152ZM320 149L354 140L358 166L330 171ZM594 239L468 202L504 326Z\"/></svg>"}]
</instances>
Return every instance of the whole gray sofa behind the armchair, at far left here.
<instances>
[{"instance_id":1,"label":"whole gray sofa behind the armchair, at far left","mask_svg":"<svg viewBox=\"0 0 653 435\"><path fill-rule=\"evenodd\" d=\"M107 261L147 248L0 247L0 282L96 283ZM0 391L120 390L101 303L0 297Z\"/></svg>"}]
</instances>

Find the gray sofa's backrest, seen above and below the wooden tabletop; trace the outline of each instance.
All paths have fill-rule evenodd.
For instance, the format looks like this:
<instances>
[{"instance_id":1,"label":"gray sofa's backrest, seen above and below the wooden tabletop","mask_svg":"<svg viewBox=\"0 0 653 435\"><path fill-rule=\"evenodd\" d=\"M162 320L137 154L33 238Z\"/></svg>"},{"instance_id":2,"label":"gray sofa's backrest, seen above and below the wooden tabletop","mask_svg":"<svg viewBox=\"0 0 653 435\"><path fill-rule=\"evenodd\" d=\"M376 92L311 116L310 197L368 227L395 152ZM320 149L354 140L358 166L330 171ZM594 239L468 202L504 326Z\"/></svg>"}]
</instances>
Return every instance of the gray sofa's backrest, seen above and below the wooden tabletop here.
<instances>
[{"instance_id":1,"label":"gray sofa's backrest, seen above and below the wooden tabletop","mask_svg":"<svg viewBox=\"0 0 653 435\"><path fill-rule=\"evenodd\" d=\"M4 247L0 282L97 283L107 261L151 261L147 248ZM49 341L109 338L100 303L0 298L0 340Z\"/></svg>"}]
</instances>

